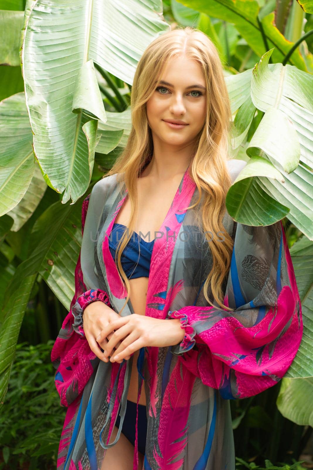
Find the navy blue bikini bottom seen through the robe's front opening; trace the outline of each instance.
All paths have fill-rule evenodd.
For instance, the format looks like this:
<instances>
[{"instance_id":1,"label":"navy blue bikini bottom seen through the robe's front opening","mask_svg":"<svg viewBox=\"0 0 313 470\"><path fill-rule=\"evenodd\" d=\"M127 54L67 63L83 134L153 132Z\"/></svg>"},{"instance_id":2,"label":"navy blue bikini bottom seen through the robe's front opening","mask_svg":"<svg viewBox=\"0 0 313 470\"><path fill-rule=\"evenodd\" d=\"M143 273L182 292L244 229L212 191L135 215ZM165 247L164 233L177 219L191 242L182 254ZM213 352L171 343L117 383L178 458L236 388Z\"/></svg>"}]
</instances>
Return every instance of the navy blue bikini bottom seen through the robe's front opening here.
<instances>
[{"instance_id":1,"label":"navy blue bikini bottom seen through the robe's front opening","mask_svg":"<svg viewBox=\"0 0 313 470\"><path fill-rule=\"evenodd\" d=\"M122 426L122 433L127 439L135 445L136 437L136 403L134 401L127 400L125 418ZM116 419L116 426L119 426L120 417L118 415ZM146 450L146 439L147 439L147 414L146 407L138 404L138 450L143 455Z\"/></svg>"}]
</instances>

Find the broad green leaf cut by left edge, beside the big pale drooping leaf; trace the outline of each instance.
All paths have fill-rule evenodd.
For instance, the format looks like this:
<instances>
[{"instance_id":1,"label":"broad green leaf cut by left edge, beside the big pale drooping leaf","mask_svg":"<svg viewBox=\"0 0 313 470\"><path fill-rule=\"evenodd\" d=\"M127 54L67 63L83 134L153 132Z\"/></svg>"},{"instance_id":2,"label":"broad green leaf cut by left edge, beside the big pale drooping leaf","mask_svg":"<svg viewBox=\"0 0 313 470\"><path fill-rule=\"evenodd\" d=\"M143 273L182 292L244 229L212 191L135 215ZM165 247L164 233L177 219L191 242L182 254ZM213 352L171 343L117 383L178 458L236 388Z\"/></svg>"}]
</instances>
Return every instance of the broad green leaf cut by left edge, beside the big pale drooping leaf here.
<instances>
[{"instance_id":1,"label":"broad green leaf cut by left edge, beside the big pale drooping leaf","mask_svg":"<svg viewBox=\"0 0 313 470\"><path fill-rule=\"evenodd\" d=\"M25 195L34 174L30 121L23 93L0 102L0 216Z\"/></svg>"}]
</instances>

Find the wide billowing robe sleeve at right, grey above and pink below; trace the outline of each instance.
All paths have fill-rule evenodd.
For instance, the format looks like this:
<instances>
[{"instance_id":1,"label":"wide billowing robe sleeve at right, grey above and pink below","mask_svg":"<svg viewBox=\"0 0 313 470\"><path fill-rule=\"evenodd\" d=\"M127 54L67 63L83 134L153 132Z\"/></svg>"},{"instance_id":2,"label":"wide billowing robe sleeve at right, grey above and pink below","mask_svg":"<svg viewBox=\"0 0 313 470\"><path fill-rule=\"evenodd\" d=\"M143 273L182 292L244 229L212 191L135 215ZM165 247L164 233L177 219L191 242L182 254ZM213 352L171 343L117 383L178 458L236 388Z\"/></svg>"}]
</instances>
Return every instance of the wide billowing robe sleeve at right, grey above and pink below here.
<instances>
[{"instance_id":1,"label":"wide billowing robe sleeve at right, grey above and pink below","mask_svg":"<svg viewBox=\"0 0 313 470\"><path fill-rule=\"evenodd\" d=\"M236 224L224 305L169 311L185 337L171 352L224 399L246 398L275 385L302 338L301 303L281 221Z\"/></svg>"}]
</instances>

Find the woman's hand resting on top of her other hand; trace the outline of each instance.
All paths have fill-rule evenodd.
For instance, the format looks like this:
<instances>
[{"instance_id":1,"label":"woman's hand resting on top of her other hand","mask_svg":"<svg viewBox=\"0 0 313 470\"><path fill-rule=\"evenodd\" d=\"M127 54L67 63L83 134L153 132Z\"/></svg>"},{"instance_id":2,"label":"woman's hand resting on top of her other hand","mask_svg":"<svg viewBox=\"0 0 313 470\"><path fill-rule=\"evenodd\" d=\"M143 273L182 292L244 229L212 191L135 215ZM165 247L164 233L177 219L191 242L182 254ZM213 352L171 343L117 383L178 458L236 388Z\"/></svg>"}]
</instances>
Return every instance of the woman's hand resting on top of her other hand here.
<instances>
[{"instance_id":1,"label":"woman's hand resting on top of her other hand","mask_svg":"<svg viewBox=\"0 0 313 470\"><path fill-rule=\"evenodd\" d=\"M133 313L125 317L119 316L108 323L97 337L97 342L104 349L105 356L112 354L111 362L120 362L143 346L179 344L184 335L179 319L160 320ZM107 337L110 337L108 342L105 339ZM114 347L117 349L112 353Z\"/></svg>"}]
</instances>

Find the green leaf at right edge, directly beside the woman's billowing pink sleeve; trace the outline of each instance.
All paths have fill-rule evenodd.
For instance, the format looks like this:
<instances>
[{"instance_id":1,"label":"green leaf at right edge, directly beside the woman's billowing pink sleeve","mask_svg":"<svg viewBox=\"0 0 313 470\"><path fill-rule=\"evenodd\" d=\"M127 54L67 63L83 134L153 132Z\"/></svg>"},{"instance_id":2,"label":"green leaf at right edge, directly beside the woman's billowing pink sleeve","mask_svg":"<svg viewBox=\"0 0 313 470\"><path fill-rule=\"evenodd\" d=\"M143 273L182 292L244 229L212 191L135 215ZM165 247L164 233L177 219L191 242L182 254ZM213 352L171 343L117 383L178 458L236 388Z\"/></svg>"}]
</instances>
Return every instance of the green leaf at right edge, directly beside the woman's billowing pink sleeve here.
<instances>
[{"instance_id":1,"label":"green leaf at right edge, directly beside the woman's billowing pink sleeve","mask_svg":"<svg viewBox=\"0 0 313 470\"><path fill-rule=\"evenodd\" d=\"M313 242L305 236L290 249L302 306L303 337L285 377L313 376Z\"/></svg>"}]
</instances>

